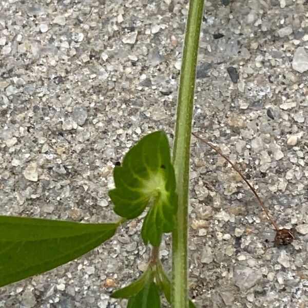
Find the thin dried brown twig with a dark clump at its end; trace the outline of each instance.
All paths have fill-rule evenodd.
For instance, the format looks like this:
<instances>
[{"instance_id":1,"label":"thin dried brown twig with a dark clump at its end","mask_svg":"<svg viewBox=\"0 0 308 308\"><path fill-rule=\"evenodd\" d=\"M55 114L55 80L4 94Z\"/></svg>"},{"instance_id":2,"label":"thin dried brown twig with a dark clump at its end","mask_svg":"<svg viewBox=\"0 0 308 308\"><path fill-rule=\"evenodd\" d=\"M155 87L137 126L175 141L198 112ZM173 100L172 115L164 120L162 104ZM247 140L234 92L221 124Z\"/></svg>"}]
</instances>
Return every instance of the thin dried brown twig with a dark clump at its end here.
<instances>
[{"instance_id":1,"label":"thin dried brown twig with a dark clump at its end","mask_svg":"<svg viewBox=\"0 0 308 308\"><path fill-rule=\"evenodd\" d=\"M269 210L267 209L267 207L265 206L264 202L262 201L262 199L259 197L259 195L257 194L256 189L253 187L253 185L251 185L248 180L245 178L245 176L242 174L241 170L232 162L230 161L225 155L224 153L221 151L221 149L211 143L209 143L208 141L206 141L205 139L201 138L200 136L198 136L195 132L192 132L192 135L195 136L197 139L199 139L200 141L202 141L203 143L205 143L206 145L208 145L210 148L212 148L213 150L215 150L221 157L223 157L231 166L232 168L238 172L238 174L241 176L241 178L245 181L245 183L248 185L248 187L253 191L254 195L256 196L256 198L258 199L262 209L264 210L267 218L269 219L269 221L272 223L272 225L274 226L275 230L276 230L276 237L275 237L275 243L276 244L288 244L291 243L294 239L294 229L285 229L282 228L280 229L277 225L277 223L275 222L275 220L271 217L271 215L269 215Z\"/></svg>"}]
</instances>

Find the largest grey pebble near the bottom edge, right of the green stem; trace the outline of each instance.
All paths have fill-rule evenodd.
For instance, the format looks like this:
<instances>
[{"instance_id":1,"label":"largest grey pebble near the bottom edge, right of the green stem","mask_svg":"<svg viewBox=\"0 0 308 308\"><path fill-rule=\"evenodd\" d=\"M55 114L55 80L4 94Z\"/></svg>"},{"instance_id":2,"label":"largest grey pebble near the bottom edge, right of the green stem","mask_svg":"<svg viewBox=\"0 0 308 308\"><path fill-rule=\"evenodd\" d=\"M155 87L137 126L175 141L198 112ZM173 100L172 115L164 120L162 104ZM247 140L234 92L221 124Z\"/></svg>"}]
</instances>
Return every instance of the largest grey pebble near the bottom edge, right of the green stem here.
<instances>
[{"instance_id":1,"label":"largest grey pebble near the bottom edge, right of the green stem","mask_svg":"<svg viewBox=\"0 0 308 308\"><path fill-rule=\"evenodd\" d=\"M249 288L253 287L261 278L262 274L257 269L244 265L234 266L234 282L241 291L249 290Z\"/></svg>"}]
</instances>

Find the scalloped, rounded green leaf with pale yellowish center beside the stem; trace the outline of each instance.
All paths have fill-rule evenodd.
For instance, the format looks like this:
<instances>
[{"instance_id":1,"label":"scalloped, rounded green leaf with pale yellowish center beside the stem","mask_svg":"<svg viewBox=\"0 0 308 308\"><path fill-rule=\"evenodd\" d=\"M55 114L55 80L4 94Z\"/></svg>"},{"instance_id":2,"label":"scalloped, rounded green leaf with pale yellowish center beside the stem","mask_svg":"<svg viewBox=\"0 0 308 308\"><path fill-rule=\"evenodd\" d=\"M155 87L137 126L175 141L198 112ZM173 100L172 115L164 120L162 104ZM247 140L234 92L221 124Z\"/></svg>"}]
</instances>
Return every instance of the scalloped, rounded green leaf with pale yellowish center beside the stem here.
<instances>
[{"instance_id":1,"label":"scalloped, rounded green leaf with pale yellowish center beside the stem","mask_svg":"<svg viewBox=\"0 0 308 308\"><path fill-rule=\"evenodd\" d=\"M143 137L113 171L115 188L109 191L118 215L131 219L150 206L142 227L145 244L159 245L162 234L171 232L177 211L175 172L169 143L163 131Z\"/></svg>"}]
</instances>

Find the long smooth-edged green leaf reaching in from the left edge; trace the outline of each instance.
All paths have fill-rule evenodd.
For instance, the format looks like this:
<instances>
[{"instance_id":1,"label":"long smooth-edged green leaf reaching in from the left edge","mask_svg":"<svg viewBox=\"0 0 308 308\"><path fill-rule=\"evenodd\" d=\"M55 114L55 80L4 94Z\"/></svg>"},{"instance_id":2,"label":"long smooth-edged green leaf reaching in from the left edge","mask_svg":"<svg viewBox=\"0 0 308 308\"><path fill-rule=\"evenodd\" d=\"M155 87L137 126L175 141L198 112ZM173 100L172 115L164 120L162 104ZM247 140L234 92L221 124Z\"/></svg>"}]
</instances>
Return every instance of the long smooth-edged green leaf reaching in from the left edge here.
<instances>
[{"instance_id":1,"label":"long smooth-edged green leaf reaching in from the left edge","mask_svg":"<svg viewBox=\"0 0 308 308\"><path fill-rule=\"evenodd\" d=\"M111 238L117 226L0 216L0 286L84 255Z\"/></svg>"}]
</instances>

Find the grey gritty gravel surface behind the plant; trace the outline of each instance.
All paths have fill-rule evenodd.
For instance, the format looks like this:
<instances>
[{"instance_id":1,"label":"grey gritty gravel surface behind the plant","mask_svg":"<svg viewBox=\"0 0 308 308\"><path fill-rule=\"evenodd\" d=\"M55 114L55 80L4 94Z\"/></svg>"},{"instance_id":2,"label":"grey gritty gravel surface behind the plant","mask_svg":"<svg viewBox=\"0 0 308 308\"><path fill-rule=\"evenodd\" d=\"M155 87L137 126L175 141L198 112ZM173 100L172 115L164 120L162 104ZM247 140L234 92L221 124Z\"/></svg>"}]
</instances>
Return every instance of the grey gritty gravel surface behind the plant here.
<instances>
[{"instance_id":1,"label":"grey gritty gravel surface behind the plant","mask_svg":"<svg viewBox=\"0 0 308 308\"><path fill-rule=\"evenodd\" d=\"M199 307L308 301L308 3L206 1L192 138L190 296ZM187 1L0 3L0 214L110 221L112 168L145 133L174 130ZM106 244L0 289L0 307L125 307L149 248L132 220ZM170 267L170 237L161 257Z\"/></svg>"}]
</instances>

